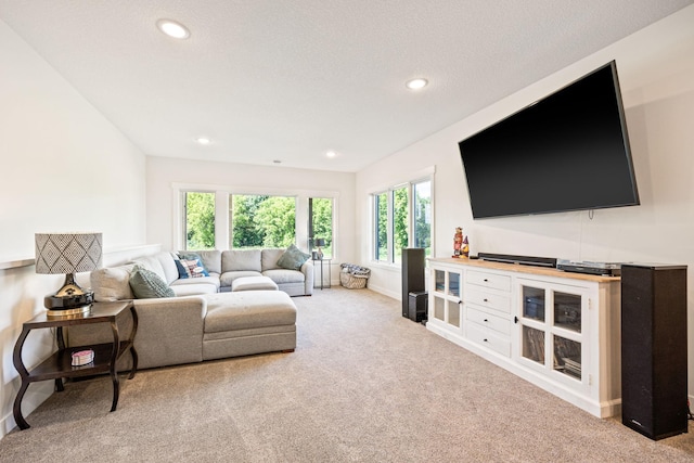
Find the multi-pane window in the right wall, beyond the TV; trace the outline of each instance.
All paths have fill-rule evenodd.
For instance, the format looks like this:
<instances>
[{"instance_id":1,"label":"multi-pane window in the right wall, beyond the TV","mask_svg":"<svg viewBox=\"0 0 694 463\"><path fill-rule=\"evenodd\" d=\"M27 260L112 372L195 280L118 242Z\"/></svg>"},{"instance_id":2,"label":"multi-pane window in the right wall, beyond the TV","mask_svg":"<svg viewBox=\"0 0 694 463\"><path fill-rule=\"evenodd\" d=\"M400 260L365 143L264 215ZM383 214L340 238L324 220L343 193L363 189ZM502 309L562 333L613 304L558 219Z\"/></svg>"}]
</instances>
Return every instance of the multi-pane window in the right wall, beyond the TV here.
<instances>
[{"instance_id":1,"label":"multi-pane window in the right wall, beyond the TV","mask_svg":"<svg viewBox=\"0 0 694 463\"><path fill-rule=\"evenodd\" d=\"M432 254L432 180L420 180L376 193L373 200L373 258L399 263L403 247Z\"/></svg>"}]
</instances>

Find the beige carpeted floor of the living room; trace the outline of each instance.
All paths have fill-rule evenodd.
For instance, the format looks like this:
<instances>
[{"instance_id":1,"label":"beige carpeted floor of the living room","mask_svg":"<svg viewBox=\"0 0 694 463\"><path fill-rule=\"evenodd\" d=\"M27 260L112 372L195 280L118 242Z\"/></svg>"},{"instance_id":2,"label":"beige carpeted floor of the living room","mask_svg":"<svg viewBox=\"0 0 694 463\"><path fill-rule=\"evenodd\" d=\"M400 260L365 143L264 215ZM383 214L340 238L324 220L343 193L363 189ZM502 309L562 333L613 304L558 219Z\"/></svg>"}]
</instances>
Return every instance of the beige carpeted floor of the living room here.
<instances>
[{"instance_id":1,"label":"beige carpeted floor of the living room","mask_svg":"<svg viewBox=\"0 0 694 463\"><path fill-rule=\"evenodd\" d=\"M340 287L293 299L298 346L68 383L0 440L0 461L684 462Z\"/></svg>"}]
</instances>

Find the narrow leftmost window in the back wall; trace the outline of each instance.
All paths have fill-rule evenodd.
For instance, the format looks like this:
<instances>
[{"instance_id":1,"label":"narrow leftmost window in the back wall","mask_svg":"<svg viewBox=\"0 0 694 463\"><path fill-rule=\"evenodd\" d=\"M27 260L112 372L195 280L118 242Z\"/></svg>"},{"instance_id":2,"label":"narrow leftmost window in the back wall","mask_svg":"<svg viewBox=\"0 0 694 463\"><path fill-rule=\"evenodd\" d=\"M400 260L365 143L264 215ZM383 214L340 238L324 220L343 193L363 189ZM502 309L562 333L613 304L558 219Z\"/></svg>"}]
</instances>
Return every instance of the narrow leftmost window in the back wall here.
<instances>
[{"instance_id":1,"label":"narrow leftmost window in the back wall","mask_svg":"<svg viewBox=\"0 0 694 463\"><path fill-rule=\"evenodd\" d=\"M185 192L185 248L215 248L215 193Z\"/></svg>"}]
</instances>

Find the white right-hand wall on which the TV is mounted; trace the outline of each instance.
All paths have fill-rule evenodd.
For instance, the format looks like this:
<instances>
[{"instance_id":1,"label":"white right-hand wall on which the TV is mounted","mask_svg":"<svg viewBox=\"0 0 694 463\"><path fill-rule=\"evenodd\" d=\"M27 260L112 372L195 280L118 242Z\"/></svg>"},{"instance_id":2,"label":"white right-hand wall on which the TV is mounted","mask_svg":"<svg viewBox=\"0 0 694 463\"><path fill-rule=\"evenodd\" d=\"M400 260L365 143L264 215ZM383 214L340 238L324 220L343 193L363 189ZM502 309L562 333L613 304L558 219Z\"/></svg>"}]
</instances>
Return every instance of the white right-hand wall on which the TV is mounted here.
<instances>
[{"instance_id":1,"label":"white right-hand wall on which the TV is mounted","mask_svg":"<svg viewBox=\"0 0 694 463\"><path fill-rule=\"evenodd\" d=\"M471 252L597 261L655 261L689 266L694 307L694 7L512 94L357 175L357 216L368 217L373 185L436 165L435 255L450 256L455 227ZM641 206L516 218L473 220L458 142L616 60L627 113ZM432 88L429 91L436 91ZM591 179L586 179L587 187ZM371 223L360 223L360 260L387 294L400 294L400 274L370 262ZM690 346L694 314L689 313ZM694 356L690 356L694 391ZM692 393L691 393L692 395Z\"/></svg>"}]
</instances>

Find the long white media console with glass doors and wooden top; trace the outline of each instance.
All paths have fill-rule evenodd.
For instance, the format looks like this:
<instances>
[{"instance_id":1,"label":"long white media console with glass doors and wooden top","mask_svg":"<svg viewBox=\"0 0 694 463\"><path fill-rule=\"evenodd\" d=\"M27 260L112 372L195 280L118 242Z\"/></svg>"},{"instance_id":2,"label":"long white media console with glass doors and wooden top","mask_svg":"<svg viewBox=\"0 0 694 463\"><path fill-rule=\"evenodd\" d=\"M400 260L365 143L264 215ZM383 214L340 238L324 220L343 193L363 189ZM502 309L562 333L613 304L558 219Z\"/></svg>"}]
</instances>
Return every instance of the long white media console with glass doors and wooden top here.
<instances>
[{"instance_id":1,"label":"long white media console with glass doors and wooden top","mask_svg":"<svg viewBox=\"0 0 694 463\"><path fill-rule=\"evenodd\" d=\"M618 276L428 260L428 330L595 416L620 413Z\"/></svg>"}]
</instances>

